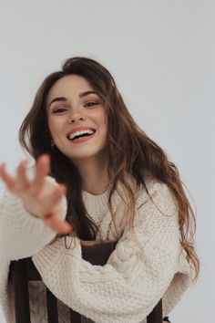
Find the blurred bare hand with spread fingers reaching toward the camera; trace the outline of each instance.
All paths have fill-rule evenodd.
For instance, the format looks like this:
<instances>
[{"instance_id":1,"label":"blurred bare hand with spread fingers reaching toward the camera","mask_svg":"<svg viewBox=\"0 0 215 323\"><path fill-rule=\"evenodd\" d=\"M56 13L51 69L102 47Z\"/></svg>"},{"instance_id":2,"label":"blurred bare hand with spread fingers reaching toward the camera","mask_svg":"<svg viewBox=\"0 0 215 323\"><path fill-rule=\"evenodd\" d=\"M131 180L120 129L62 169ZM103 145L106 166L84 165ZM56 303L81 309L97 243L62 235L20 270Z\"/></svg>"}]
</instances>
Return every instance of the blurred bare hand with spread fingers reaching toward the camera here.
<instances>
[{"instance_id":1,"label":"blurred bare hand with spread fingers reaching toward the camera","mask_svg":"<svg viewBox=\"0 0 215 323\"><path fill-rule=\"evenodd\" d=\"M36 162L36 174L33 179L26 175L27 161L20 162L15 176L0 165L0 177L7 189L23 200L27 212L41 218L53 230L61 234L71 233L70 224L62 219L62 199L66 186L48 180L50 158L42 155Z\"/></svg>"}]
</instances>

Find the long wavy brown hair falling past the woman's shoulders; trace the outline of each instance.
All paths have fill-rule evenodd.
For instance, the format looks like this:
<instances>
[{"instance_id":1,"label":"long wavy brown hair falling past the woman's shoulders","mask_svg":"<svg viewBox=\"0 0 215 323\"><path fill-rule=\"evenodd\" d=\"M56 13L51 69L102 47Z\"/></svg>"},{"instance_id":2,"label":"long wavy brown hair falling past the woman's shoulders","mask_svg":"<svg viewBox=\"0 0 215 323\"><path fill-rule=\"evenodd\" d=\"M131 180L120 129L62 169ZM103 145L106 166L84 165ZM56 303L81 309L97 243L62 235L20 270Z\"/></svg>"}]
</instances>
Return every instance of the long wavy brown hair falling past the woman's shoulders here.
<instances>
[{"instance_id":1,"label":"long wavy brown hair falling past the woman's shoulders","mask_svg":"<svg viewBox=\"0 0 215 323\"><path fill-rule=\"evenodd\" d=\"M150 173L160 182L166 183L174 193L179 206L180 244L186 250L189 264L194 268L194 280L200 271L200 261L194 249L193 236L196 231L195 214L183 189L179 171L167 154L157 143L148 138L130 115L111 74L97 61L87 57L68 58L62 70L45 78L36 92L33 106L26 115L19 130L21 145L36 160L41 154L51 155L50 175L57 182L67 184L67 221L73 225L77 236L83 240L96 239L97 225L87 216L82 201L81 177L76 166L56 146L52 148L47 125L46 97L49 89L59 79L69 74L76 74L87 79L97 94L103 99L107 110L107 171L111 179L108 207L111 197L120 182L128 193L128 224L132 230L135 217L135 197L132 187L126 180L126 173L131 174L139 186L144 182L144 175ZM111 158L110 158L111 157ZM63 172L61 170L64 170ZM75 189L74 189L75 188ZM149 194L149 193L148 193Z\"/></svg>"}]
</instances>

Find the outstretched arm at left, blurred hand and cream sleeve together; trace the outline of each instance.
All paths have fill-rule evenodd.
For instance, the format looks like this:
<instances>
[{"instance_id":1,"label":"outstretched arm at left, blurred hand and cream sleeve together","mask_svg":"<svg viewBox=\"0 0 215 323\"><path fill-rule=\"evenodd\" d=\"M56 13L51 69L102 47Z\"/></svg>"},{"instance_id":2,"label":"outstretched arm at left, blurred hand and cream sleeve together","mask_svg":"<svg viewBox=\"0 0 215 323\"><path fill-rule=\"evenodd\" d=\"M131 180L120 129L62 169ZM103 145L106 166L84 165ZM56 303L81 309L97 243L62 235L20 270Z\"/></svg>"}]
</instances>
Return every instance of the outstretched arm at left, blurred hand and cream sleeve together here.
<instances>
[{"instance_id":1,"label":"outstretched arm at left, blurred hand and cream sleeve together","mask_svg":"<svg viewBox=\"0 0 215 323\"><path fill-rule=\"evenodd\" d=\"M21 162L15 176L0 165L6 191L0 201L0 257L15 260L35 255L56 236L68 233L66 188L47 176L49 157L41 156L33 179Z\"/></svg>"}]
</instances>

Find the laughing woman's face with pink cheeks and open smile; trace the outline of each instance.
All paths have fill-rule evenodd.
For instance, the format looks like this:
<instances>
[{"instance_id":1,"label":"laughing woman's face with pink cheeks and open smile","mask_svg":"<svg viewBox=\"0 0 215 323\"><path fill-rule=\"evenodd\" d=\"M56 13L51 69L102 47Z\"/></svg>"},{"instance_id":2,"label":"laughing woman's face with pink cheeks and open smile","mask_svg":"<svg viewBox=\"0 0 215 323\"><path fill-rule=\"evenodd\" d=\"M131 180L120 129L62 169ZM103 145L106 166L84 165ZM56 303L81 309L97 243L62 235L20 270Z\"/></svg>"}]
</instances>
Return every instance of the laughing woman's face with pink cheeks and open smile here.
<instances>
[{"instance_id":1,"label":"laughing woman's face with pink cheeks and open smile","mask_svg":"<svg viewBox=\"0 0 215 323\"><path fill-rule=\"evenodd\" d=\"M46 107L54 144L68 158L76 162L106 152L106 110L86 78L68 75L57 80Z\"/></svg>"}]
</instances>

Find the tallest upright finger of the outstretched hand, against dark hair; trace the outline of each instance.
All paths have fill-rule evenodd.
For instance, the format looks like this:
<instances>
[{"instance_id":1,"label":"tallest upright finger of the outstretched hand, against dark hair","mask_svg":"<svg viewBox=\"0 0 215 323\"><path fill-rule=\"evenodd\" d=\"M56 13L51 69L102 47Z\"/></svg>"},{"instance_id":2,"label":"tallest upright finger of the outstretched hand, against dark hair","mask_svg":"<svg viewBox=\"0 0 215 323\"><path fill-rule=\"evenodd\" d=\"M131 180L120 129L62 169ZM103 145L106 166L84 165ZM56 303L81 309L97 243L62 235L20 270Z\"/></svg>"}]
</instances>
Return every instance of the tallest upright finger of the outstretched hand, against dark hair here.
<instances>
[{"instance_id":1,"label":"tallest upright finger of the outstretched hand, against dark hair","mask_svg":"<svg viewBox=\"0 0 215 323\"><path fill-rule=\"evenodd\" d=\"M32 193L37 194L44 186L46 175L49 172L50 158L48 155L42 155L36 162L36 177L32 182Z\"/></svg>"}]
</instances>

